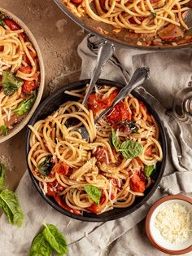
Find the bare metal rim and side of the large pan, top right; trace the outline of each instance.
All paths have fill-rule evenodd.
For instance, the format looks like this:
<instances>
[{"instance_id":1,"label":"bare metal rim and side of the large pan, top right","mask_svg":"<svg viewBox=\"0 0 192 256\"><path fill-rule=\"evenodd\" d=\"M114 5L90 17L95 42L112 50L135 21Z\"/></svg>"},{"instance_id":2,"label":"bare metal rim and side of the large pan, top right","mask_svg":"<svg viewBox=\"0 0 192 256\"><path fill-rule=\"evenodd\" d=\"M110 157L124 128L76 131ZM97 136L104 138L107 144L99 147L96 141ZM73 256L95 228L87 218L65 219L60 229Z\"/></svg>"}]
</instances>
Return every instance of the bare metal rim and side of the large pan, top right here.
<instances>
[{"instance_id":1,"label":"bare metal rim and side of the large pan, top right","mask_svg":"<svg viewBox=\"0 0 192 256\"><path fill-rule=\"evenodd\" d=\"M128 33L128 29L122 29L120 33L116 33L113 31L113 27L109 24L105 24L102 22L98 22L96 20L92 20L89 18L88 15L85 15L81 18L77 17L72 13L72 11L68 10L68 8L64 5L62 0L54 0L55 3L61 8L61 10L68 15L70 19L72 19L76 24L79 24L82 28L89 31L89 33L92 33L94 35L97 35L100 38L103 38L104 40L111 41L113 43L119 44L120 46L125 47L133 47L140 50L146 50L146 51L168 51L168 50L177 50L181 48L191 47L192 42L172 46L172 44L166 44L164 46L140 46L137 45L137 42L134 38L126 37L126 34ZM192 11L188 14L185 23L188 24L190 29L185 32L185 35L192 36ZM98 29L100 28L100 29ZM103 33L103 31L107 31L107 33Z\"/></svg>"}]
</instances>

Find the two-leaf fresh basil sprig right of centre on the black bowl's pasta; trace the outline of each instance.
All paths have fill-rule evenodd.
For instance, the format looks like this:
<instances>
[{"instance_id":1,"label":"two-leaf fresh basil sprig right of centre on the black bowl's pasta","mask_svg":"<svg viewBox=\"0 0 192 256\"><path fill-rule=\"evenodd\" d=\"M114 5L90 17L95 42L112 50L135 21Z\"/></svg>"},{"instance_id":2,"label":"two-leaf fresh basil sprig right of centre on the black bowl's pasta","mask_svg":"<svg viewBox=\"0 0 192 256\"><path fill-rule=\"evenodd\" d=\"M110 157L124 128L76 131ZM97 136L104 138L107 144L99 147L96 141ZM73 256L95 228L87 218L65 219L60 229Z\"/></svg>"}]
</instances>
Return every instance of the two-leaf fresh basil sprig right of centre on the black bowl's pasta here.
<instances>
[{"instance_id":1,"label":"two-leaf fresh basil sprig right of centre on the black bowl's pasta","mask_svg":"<svg viewBox=\"0 0 192 256\"><path fill-rule=\"evenodd\" d=\"M116 132L111 129L111 144L116 148L116 152L121 152L124 158L132 159L133 157L138 157L143 152L142 144L137 143L134 140L125 140L123 143L118 143L116 139Z\"/></svg>"}]
</instances>

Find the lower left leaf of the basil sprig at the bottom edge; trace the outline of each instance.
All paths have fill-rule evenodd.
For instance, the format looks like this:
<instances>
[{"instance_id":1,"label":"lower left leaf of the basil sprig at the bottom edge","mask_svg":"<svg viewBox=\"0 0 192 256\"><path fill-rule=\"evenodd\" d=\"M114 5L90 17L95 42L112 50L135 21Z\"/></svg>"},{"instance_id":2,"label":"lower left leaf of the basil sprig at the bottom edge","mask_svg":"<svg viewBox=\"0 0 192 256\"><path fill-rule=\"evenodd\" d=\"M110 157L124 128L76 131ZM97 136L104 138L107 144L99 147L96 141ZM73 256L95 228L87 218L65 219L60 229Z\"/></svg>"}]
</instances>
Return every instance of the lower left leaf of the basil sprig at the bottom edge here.
<instances>
[{"instance_id":1,"label":"lower left leaf of the basil sprig at the bottom edge","mask_svg":"<svg viewBox=\"0 0 192 256\"><path fill-rule=\"evenodd\" d=\"M50 244L46 241L43 233L39 233L33 239L28 256L50 256L52 255L52 249Z\"/></svg>"}]
</instances>

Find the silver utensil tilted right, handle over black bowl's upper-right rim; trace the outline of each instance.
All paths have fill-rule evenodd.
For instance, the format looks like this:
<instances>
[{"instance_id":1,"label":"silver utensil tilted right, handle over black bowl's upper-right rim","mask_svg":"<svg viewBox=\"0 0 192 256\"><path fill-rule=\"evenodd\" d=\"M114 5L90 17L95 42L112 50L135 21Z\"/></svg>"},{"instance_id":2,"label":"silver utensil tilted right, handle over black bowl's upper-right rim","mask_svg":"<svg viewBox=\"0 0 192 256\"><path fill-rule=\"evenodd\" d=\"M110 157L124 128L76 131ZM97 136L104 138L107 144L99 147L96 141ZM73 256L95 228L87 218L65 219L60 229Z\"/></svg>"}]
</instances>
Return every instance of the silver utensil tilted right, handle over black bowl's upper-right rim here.
<instances>
[{"instance_id":1,"label":"silver utensil tilted right, handle over black bowl's upper-right rim","mask_svg":"<svg viewBox=\"0 0 192 256\"><path fill-rule=\"evenodd\" d=\"M114 99L111 106L103 110L103 112L98 115L97 119L94 121L94 124L96 124L102 117L104 117L109 111L111 111L111 109L114 108L116 104L120 102L120 100L124 99L127 95L129 95L132 90L134 90L137 86L141 86L142 83L146 82L146 79L148 79L149 77L149 68L137 68L133 73L133 76L131 77L129 83L120 90L120 93L116 96L116 99ZM81 133L83 139L89 141L89 134L84 126L79 127L77 130L79 133Z\"/></svg>"}]
</instances>

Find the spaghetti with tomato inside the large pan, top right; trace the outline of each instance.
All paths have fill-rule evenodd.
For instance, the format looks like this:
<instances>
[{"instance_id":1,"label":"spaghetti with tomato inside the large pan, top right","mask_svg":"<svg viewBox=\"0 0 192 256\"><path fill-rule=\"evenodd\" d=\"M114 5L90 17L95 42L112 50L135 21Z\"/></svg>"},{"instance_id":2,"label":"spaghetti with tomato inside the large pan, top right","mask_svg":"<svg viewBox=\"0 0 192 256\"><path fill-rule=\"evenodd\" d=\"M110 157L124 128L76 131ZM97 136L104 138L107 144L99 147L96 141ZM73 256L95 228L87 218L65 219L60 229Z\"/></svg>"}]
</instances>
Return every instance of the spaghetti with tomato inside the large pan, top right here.
<instances>
[{"instance_id":1,"label":"spaghetti with tomato inside the large pan, top right","mask_svg":"<svg viewBox=\"0 0 192 256\"><path fill-rule=\"evenodd\" d=\"M111 24L116 33L128 29L127 38L137 34L138 44L147 38L160 42L175 42L184 37L185 15L191 0L63 0L64 4L81 17L89 15L93 20ZM99 29L101 32L101 28ZM108 33L103 30L103 33ZM142 40L145 39L145 40ZM185 38L189 40L189 38ZM159 40L153 41L158 45ZM183 43L183 42L182 42ZM152 42L151 42L152 45Z\"/></svg>"}]
</instances>

